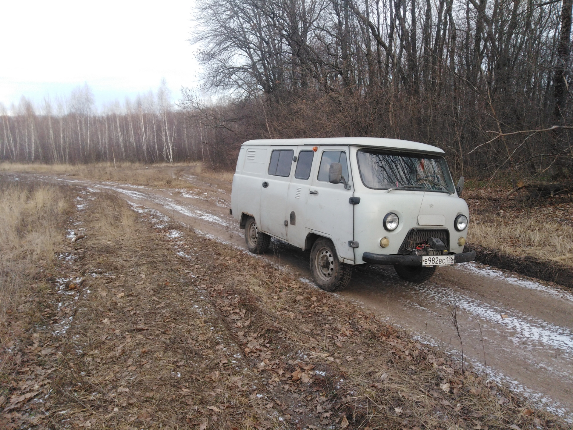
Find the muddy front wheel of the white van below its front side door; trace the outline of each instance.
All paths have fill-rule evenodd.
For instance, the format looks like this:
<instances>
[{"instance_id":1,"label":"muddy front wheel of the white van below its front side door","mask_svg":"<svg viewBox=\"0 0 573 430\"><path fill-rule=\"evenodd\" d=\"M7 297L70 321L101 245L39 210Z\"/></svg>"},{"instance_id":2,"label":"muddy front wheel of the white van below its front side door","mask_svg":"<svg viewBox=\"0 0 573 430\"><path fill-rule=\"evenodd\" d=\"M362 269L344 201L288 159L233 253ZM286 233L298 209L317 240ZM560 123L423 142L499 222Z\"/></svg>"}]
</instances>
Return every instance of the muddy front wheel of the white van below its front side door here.
<instances>
[{"instance_id":1,"label":"muddy front wheel of the white van below its front side door","mask_svg":"<svg viewBox=\"0 0 573 430\"><path fill-rule=\"evenodd\" d=\"M324 291L340 291L350 283L352 266L339 261L331 240L320 237L312 245L311 272Z\"/></svg>"}]
</instances>

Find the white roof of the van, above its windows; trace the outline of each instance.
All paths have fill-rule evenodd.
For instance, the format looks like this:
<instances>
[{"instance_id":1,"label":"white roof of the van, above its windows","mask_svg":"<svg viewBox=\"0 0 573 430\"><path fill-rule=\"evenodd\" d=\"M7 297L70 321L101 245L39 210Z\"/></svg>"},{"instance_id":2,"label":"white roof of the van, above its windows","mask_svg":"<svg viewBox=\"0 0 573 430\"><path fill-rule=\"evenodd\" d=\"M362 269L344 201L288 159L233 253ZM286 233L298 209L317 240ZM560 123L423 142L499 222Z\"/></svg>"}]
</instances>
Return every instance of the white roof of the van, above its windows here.
<instances>
[{"instance_id":1,"label":"white roof of the van, above its windows","mask_svg":"<svg viewBox=\"0 0 573 430\"><path fill-rule=\"evenodd\" d=\"M425 143L410 140L386 138L317 138L317 139L256 139L248 140L244 145L295 146L295 145L352 145L376 148L406 149L411 151L444 154L444 150Z\"/></svg>"}]
</instances>

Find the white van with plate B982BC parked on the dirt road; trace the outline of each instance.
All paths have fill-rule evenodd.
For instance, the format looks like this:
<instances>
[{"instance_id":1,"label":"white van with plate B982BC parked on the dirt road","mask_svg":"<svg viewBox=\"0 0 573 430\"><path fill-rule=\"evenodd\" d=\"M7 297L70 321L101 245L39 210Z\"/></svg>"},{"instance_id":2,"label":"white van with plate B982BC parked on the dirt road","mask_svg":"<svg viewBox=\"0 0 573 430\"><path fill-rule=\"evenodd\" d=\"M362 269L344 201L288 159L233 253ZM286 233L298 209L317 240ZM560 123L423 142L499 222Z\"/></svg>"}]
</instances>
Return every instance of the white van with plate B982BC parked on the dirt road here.
<instances>
[{"instance_id":1,"label":"white van with plate B982BC parked on the dirt road","mask_svg":"<svg viewBox=\"0 0 573 430\"><path fill-rule=\"evenodd\" d=\"M380 138L249 140L233 176L231 213L250 252L276 237L311 250L326 291L342 290L352 267L394 265L423 282L436 266L472 261L463 252L468 205L444 151Z\"/></svg>"}]
</instances>

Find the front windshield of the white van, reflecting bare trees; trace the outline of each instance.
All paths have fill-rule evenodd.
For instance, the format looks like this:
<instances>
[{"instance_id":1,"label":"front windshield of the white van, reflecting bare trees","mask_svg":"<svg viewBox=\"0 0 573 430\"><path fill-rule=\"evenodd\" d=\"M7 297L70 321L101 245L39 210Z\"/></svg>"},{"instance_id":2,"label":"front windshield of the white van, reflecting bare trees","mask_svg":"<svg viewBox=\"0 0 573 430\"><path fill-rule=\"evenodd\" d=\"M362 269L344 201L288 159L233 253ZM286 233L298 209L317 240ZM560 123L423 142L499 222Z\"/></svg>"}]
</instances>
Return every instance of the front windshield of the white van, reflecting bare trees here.
<instances>
[{"instance_id":1,"label":"front windshield of the white van, reflecting bare trees","mask_svg":"<svg viewBox=\"0 0 573 430\"><path fill-rule=\"evenodd\" d=\"M444 157L366 148L356 157L360 178L368 188L454 192Z\"/></svg>"}]
</instances>

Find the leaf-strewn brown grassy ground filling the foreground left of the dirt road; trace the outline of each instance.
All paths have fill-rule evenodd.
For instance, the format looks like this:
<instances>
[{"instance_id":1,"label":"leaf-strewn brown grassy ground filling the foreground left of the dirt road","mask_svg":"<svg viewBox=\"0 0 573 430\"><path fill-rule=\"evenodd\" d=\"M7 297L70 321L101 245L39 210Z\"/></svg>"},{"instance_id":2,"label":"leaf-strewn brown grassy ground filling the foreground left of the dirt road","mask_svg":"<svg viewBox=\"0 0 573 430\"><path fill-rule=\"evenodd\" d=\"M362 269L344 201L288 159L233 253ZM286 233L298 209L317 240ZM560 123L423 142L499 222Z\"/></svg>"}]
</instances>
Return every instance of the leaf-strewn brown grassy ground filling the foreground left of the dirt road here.
<instances>
[{"instance_id":1,"label":"leaf-strewn brown grassy ground filling the foreground left of the dirt road","mask_svg":"<svg viewBox=\"0 0 573 430\"><path fill-rule=\"evenodd\" d=\"M1 428L566 427L363 308L113 194L3 190L20 208L6 255L25 263L5 290Z\"/></svg>"}]
</instances>

